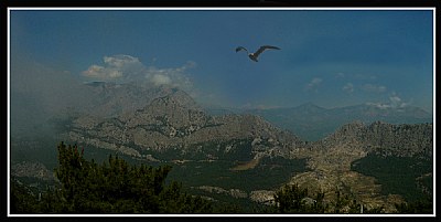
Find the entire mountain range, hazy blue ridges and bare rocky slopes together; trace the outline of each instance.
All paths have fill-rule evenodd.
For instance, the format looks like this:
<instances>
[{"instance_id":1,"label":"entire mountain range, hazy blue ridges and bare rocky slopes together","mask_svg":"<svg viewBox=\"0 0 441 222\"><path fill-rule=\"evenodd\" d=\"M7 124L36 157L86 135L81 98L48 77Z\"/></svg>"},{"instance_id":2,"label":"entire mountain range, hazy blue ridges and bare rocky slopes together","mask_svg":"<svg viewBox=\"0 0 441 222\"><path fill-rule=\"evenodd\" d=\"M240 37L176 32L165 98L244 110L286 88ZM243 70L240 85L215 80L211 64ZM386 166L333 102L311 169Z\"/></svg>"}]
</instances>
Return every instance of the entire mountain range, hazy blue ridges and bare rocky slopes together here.
<instances>
[{"instance_id":1,"label":"entire mountain range, hazy blue ridges and bare rocky slopes together","mask_svg":"<svg viewBox=\"0 0 441 222\"><path fill-rule=\"evenodd\" d=\"M370 205L392 208L402 199L381 194L374 177L353 170L354 161L374 155L430 162L433 155L430 115L413 107L392 110L359 105L326 109L305 104L243 113L225 109L227 114L216 110L214 115L174 87L101 82L87 83L84 87L90 92L94 103L66 113L68 119L58 121L63 125L65 141L111 150L141 161L183 165L181 170L189 161L201 163L195 171L202 166L211 168L216 162L230 162L215 170L237 177L255 168L271 171L288 167L280 165L287 160L304 160L306 170L292 173L286 182L325 192L331 199L335 189L343 189ZM303 136L299 137L298 131ZM426 177L429 172L423 173ZM218 179L225 181L228 177L218 176ZM234 182L237 181L227 184ZM207 186L216 184L196 188L206 190ZM240 190L246 188L229 189L254 197L256 202L268 201L273 191L250 190L248 194ZM256 193L260 194L256 198Z\"/></svg>"}]
</instances>

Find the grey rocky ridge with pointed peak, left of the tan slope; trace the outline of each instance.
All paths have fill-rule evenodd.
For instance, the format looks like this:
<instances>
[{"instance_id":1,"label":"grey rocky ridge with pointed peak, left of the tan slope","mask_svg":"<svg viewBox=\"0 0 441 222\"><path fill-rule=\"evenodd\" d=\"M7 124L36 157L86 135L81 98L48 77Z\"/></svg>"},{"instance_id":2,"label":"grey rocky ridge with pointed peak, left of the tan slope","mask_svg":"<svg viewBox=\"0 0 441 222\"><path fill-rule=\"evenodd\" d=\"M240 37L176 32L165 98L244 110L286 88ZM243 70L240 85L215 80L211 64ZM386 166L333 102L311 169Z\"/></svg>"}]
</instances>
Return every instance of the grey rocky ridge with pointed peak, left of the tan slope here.
<instances>
[{"instance_id":1,"label":"grey rocky ridge with pointed peak, left of the tan slope","mask_svg":"<svg viewBox=\"0 0 441 222\"><path fill-rule=\"evenodd\" d=\"M228 144L234 140L247 140L256 154L287 155L291 149L303 147L297 136L273 127L259 116L209 116L185 92L176 88L168 89L166 95L153 98L142 108L117 117L79 116L73 121L68 137L137 157L144 150L191 152L196 145L222 141L227 144L218 149L225 152L234 148Z\"/></svg>"}]
</instances>

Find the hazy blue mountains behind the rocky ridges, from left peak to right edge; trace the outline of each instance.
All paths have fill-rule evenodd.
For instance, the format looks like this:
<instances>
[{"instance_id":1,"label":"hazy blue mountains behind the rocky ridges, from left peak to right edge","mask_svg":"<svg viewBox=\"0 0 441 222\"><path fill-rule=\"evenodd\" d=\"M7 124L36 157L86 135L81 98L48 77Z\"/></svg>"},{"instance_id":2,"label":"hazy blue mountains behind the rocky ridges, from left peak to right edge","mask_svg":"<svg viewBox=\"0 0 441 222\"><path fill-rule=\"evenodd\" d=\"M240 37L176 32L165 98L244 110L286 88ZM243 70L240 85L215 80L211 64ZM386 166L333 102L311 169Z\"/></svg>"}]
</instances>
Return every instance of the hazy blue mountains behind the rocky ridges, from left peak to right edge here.
<instances>
[{"instance_id":1,"label":"hazy blue mountains behind the rocky ridges, from left peak to right edge","mask_svg":"<svg viewBox=\"0 0 441 222\"><path fill-rule=\"evenodd\" d=\"M84 84L93 97L86 112L97 117L116 117L146 107L154 98L170 95L172 91L180 89L168 86L139 86L136 84L116 84L106 82L89 82ZM181 96L181 99L184 99ZM184 103L184 101L182 102ZM320 140L338 127L352 121L370 124L385 121L390 124L420 124L432 123L432 115L426 110L406 106L402 108L381 108L375 104L361 104L354 106L324 108L313 103L302 104L297 107L268 108L268 109L238 109L238 108L206 108L197 105L193 98L186 101L189 106L197 106L206 115L222 116L234 114L259 115L277 127L288 129L303 140Z\"/></svg>"}]
</instances>

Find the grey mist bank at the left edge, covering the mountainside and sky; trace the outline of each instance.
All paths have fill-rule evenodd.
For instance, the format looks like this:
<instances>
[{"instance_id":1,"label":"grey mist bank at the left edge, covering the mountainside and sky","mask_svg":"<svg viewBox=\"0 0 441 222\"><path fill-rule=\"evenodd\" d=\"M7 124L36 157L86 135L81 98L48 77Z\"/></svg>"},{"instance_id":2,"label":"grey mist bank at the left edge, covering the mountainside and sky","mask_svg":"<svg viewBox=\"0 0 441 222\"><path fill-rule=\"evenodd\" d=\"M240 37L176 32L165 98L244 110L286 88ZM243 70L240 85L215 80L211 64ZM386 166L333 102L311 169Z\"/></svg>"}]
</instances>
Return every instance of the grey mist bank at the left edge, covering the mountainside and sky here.
<instances>
[{"instance_id":1,"label":"grey mist bank at the left edge, covering the mountainside and sky","mask_svg":"<svg viewBox=\"0 0 441 222\"><path fill-rule=\"evenodd\" d=\"M13 137L53 136L56 129L51 119L90 105L89 92L73 75L14 55L10 78Z\"/></svg>"}]
</instances>

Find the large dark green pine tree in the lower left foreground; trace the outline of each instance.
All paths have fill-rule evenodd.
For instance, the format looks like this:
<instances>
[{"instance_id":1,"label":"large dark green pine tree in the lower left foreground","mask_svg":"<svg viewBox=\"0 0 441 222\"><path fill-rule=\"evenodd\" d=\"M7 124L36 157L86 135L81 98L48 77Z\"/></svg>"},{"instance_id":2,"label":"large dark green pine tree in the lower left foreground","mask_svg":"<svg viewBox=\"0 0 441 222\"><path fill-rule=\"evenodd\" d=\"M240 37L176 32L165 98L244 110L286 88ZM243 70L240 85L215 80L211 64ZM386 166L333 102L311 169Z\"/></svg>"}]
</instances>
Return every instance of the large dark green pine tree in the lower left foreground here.
<instances>
[{"instance_id":1,"label":"large dark green pine tree in the lower left foreground","mask_svg":"<svg viewBox=\"0 0 441 222\"><path fill-rule=\"evenodd\" d=\"M175 181L165 184L170 166L130 166L118 156L107 162L84 159L77 145L61 142L56 177L61 213L206 213L209 201L182 193ZM49 210L49 209L46 209Z\"/></svg>"}]
</instances>

